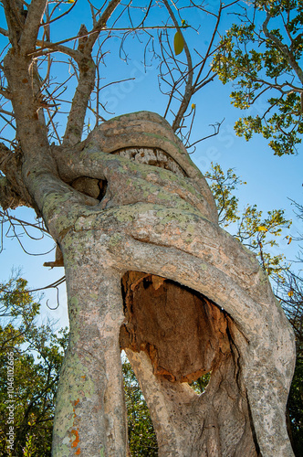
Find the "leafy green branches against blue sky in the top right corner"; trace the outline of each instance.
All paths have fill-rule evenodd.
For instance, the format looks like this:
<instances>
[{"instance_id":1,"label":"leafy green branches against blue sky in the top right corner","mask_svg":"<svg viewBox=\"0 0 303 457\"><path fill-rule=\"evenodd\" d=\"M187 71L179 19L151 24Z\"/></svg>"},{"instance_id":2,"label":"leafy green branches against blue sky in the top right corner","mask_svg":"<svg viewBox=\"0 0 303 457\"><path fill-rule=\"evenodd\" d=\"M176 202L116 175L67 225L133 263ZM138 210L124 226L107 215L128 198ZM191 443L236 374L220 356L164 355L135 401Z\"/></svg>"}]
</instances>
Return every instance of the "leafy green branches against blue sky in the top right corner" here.
<instances>
[{"instance_id":1,"label":"leafy green branches against blue sky in the top right corner","mask_svg":"<svg viewBox=\"0 0 303 457\"><path fill-rule=\"evenodd\" d=\"M231 98L236 108L246 110L269 94L262 112L235 123L236 134L248 141L253 133L261 133L274 154L294 154L303 133L303 4L253 3L255 7L242 9L242 24L234 24L222 38L213 69L224 84L234 82Z\"/></svg>"}]
</instances>

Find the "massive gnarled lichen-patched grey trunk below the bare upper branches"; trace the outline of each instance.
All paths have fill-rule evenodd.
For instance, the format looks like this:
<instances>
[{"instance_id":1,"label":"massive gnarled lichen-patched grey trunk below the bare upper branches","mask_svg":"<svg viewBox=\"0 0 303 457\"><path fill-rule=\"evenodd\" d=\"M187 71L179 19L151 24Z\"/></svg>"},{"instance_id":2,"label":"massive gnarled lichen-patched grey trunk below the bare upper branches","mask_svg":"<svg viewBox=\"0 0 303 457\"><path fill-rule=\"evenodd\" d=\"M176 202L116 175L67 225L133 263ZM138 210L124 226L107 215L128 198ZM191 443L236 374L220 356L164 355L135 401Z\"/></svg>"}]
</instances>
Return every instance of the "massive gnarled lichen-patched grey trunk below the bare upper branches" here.
<instances>
[{"instance_id":1,"label":"massive gnarled lichen-patched grey trunk below the bare upper branches","mask_svg":"<svg viewBox=\"0 0 303 457\"><path fill-rule=\"evenodd\" d=\"M53 455L127 455L120 346L159 455L293 455L292 330L170 125L132 113L47 154L46 166L28 153L22 173L67 276ZM199 396L188 382L208 372Z\"/></svg>"}]
</instances>

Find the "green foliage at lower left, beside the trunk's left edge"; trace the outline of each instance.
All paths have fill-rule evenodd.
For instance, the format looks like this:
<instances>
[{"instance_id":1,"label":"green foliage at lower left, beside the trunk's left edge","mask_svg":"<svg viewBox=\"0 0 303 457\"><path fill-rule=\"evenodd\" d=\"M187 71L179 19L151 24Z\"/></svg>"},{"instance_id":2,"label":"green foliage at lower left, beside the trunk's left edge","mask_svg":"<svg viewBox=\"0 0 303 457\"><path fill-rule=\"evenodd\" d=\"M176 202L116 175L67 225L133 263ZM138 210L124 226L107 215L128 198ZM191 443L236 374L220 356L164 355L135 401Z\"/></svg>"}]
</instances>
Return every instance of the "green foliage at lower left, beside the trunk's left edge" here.
<instances>
[{"instance_id":1,"label":"green foliage at lower left, beside the trunk's left edge","mask_svg":"<svg viewBox=\"0 0 303 457\"><path fill-rule=\"evenodd\" d=\"M38 325L39 303L18 278L0 285L0 453L3 456L50 455L52 420L59 370L68 343L67 330L56 335ZM13 382L7 367L14 360ZM13 389L13 390L12 390ZM13 401L10 401L12 400ZM14 452L7 449L11 425L7 405L14 405Z\"/></svg>"}]
</instances>

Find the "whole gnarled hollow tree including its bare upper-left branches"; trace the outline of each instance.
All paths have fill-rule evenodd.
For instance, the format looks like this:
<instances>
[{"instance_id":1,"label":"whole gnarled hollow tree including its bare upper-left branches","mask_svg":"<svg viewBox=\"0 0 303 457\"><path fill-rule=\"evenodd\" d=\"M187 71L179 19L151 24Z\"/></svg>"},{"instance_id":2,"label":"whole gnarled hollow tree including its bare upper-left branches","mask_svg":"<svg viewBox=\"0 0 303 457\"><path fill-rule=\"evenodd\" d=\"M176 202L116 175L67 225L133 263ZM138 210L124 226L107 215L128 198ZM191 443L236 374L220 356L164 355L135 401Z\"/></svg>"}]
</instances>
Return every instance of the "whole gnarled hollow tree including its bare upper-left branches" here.
<instances>
[{"instance_id":1,"label":"whole gnarled hollow tree including its bare upper-left branches","mask_svg":"<svg viewBox=\"0 0 303 457\"><path fill-rule=\"evenodd\" d=\"M186 29L178 26L182 10L163 1L162 81L173 80L176 68L183 72L171 85L168 108L183 93L172 129L152 112L101 122L100 105L91 105L100 56L136 5L90 4L91 29L81 26L63 43L51 40L51 26L84 2L2 3L1 32L9 39L2 112L16 139L1 143L1 204L33 207L43 218L61 252L54 265L64 264L67 281L70 335L53 456L128 455L121 349L151 411L159 455L293 455L285 418L292 330L254 254L219 228L204 176L174 133L194 91L214 79L205 64L230 5L218 6L200 63L184 39L185 60L174 67L164 38L169 27L183 36ZM133 33L150 25L157 5L139 4ZM52 76L58 53L77 76L63 133L56 123L63 86ZM96 126L83 137L88 106ZM189 383L205 373L211 379L199 396Z\"/></svg>"}]
</instances>

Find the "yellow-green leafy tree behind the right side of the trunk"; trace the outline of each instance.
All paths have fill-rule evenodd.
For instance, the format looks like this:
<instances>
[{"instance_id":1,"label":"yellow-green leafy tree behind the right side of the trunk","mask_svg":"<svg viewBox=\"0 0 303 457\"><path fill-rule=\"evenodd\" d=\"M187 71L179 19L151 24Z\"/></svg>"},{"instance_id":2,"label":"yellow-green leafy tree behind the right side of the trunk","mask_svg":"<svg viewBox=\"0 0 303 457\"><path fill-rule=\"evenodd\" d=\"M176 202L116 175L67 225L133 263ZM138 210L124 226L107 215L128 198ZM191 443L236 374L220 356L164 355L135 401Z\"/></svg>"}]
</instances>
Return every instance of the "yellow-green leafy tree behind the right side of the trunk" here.
<instances>
[{"instance_id":1,"label":"yellow-green leafy tree behind the right side of the trunk","mask_svg":"<svg viewBox=\"0 0 303 457\"><path fill-rule=\"evenodd\" d=\"M287 402L288 432L296 456L303 449L303 397L302 397L302 261L301 248L298 248L298 258L287 260L284 253L273 254L273 248L278 247L281 235L292 242L288 234L291 221L284 218L282 209L268 211L267 217L256 205L247 205L243 211L239 208L239 199L235 190L239 185L245 185L232 169L226 174L221 166L212 165L206 174L218 207L222 224L236 239L243 242L256 253L261 267L266 271L273 285L279 303L282 305L296 335L297 363ZM302 206L294 202L295 216L302 219ZM298 233L300 243L302 237Z\"/></svg>"}]
</instances>

